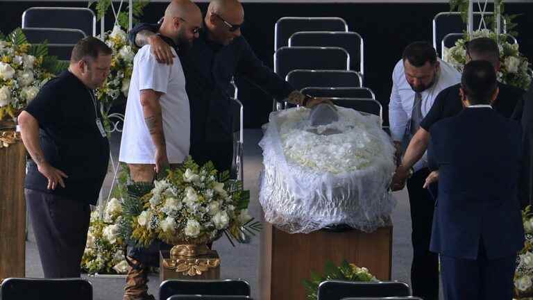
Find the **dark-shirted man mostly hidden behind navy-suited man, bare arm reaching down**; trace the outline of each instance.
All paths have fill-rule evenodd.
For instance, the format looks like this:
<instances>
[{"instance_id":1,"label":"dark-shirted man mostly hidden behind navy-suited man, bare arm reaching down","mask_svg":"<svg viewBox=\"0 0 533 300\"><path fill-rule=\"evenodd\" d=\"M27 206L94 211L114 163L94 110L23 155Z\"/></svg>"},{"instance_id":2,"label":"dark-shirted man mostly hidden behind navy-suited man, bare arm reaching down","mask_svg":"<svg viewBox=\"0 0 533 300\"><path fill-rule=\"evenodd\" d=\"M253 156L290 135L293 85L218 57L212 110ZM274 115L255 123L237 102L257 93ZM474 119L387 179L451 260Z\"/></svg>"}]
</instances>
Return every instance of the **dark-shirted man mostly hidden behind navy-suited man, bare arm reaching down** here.
<instances>
[{"instance_id":1,"label":"dark-shirted man mostly hidden behind navy-suited man, bare arm reaching down","mask_svg":"<svg viewBox=\"0 0 533 300\"><path fill-rule=\"evenodd\" d=\"M487 60L498 72L500 69L500 51L496 42L490 38L477 38L466 44L467 60ZM468 63L467 61L467 63ZM405 151L402 163L396 169L392 190L402 190L409 176L409 170L423 156L430 141L430 128L439 120L453 117L463 110L461 97L459 96L460 84L452 85L442 90L435 99L428 115L420 123L420 129L413 136ZM500 92L498 97L491 103L493 109L504 117L511 117L516 104L522 99L524 90L514 88L504 83L498 83Z\"/></svg>"}]
</instances>

